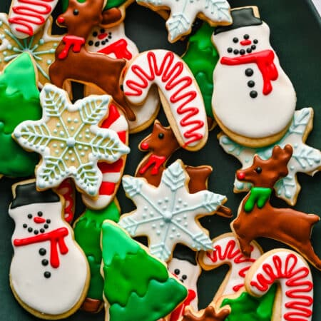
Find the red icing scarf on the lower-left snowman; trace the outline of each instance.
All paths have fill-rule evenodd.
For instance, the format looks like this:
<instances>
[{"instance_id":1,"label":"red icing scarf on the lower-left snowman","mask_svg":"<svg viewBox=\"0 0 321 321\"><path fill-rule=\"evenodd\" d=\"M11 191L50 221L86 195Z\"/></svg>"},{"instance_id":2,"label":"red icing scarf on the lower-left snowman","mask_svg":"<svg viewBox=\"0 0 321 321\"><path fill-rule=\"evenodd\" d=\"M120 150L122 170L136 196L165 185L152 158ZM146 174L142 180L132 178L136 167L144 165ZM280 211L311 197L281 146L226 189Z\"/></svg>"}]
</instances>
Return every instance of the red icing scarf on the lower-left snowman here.
<instances>
[{"instance_id":1,"label":"red icing scarf on the lower-left snowman","mask_svg":"<svg viewBox=\"0 0 321 321\"><path fill-rule=\"evenodd\" d=\"M57 268L59 267L58 247L62 255L68 253L68 248L64 240L67 235L67 228L57 228L51 232L34 235L30 238L16 238L14 239L14 246L24 246L50 241L50 264L52 267Z\"/></svg>"}]
</instances>

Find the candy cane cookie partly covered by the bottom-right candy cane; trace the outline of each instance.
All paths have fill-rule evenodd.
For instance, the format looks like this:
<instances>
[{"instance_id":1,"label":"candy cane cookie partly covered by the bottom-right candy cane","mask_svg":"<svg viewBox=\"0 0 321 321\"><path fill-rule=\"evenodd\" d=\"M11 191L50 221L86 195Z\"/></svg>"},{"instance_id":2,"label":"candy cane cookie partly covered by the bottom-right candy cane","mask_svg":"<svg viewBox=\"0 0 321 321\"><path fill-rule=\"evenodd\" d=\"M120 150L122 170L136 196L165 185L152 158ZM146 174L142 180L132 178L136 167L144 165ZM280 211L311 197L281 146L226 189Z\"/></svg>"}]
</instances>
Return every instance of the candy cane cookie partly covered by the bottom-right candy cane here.
<instances>
[{"instance_id":1,"label":"candy cane cookie partly covered by the bottom-right candy cane","mask_svg":"<svg viewBox=\"0 0 321 321\"><path fill-rule=\"evenodd\" d=\"M231 295L244 286L246 273L262 253L263 250L260 245L252 242L250 258L246 258L240 252L238 242L233 233L225 233L215 238L213 240L213 250L200 253L198 262L203 270L213 270L223 264L230 265L228 274L215 293L214 304L223 295Z\"/></svg>"}]
</instances>

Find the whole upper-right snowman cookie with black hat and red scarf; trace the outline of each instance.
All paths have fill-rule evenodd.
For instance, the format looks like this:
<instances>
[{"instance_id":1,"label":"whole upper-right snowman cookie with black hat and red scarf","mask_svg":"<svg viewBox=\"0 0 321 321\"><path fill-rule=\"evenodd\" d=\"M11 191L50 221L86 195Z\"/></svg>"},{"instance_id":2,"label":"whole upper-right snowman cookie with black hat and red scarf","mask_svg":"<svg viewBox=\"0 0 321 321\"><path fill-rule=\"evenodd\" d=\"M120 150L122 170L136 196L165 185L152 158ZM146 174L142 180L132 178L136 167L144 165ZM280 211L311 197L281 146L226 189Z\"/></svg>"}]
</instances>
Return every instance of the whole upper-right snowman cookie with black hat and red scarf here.
<instances>
[{"instance_id":1,"label":"whole upper-right snowman cookie with black hat and red scarf","mask_svg":"<svg viewBox=\"0 0 321 321\"><path fill-rule=\"evenodd\" d=\"M270 29L256 7L231 11L233 24L215 29L213 113L234 141L267 146L284 136L295 111L296 95L270 45Z\"/></svg>"}]
</instances>

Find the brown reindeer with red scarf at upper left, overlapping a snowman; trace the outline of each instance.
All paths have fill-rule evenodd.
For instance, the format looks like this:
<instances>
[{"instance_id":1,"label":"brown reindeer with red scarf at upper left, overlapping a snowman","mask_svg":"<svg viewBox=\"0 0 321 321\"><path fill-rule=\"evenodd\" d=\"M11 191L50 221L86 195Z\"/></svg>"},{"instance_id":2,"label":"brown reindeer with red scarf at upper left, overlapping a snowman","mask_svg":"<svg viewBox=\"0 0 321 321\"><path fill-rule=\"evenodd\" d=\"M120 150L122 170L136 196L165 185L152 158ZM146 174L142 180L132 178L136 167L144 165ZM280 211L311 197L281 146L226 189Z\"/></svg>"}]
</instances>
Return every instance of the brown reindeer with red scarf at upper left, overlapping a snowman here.
<instances>
[{"instance_id":1,"label":"brown reindeer with red scarf at upper left, overlapping a snowman","mask_svg":"<svg viewBox=\"0 0 321 321\"><path fill-rule=\"evenodd\" d=\"M119 19L117 10L102 14L103 5L104 0L86 0L83 3L69 0L68 9L57 19L60 26L68 29L68 34L57 47L56 61L49 68L49 76L51 82L60 88L67 79L93 83L113 96L116 105L123 109L129 120L134 121L136 116L128 106L120 84L126 60L91 53L85 48L94 26Z\"/></svg>"}]
</instances>

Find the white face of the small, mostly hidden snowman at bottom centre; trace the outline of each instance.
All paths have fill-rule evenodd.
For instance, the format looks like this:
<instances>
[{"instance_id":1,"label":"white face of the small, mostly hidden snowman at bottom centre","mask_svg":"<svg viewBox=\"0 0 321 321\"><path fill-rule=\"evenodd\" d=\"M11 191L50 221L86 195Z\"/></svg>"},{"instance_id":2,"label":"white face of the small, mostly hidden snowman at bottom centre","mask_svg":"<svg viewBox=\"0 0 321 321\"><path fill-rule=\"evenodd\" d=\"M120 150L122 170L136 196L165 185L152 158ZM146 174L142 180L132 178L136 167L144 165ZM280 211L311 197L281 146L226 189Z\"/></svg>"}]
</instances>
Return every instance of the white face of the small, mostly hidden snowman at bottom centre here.
<instances>
[{"instance_id":1,"label":"white face of the small, mostly hidden snowman at bottom centre","mask_svg":"<svg viewBox=\"0 0 321 321\"><path fill-rule=\"evenodd\" d=\"M200 275L200 266L193 265L186 260L173 258L168 264L168 270L182 282L185 287L195 288Z\"/></svg>"}]
</instances>

